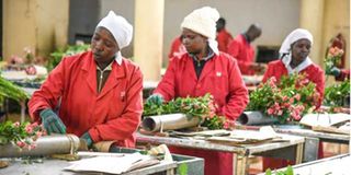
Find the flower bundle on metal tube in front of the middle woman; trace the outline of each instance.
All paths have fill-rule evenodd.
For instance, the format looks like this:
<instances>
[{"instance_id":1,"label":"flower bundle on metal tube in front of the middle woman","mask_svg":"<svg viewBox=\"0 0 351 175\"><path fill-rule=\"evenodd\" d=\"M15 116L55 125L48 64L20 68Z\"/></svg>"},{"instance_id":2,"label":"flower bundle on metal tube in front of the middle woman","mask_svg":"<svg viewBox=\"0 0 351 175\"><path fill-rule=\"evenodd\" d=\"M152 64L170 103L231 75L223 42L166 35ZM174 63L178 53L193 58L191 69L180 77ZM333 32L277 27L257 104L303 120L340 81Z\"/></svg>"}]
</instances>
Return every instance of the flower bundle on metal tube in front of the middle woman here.
<instances>
[{"instance_id":1,"label":"flower bundle on metal tube in front of the middle woman","mask_svg":"<svg viewBox=\"0 0 351 175\"><path fill-rule=\"evenodd\" d=\"M189 119L200 117L201 126L208 129L223 129L230 127L231 122L224 116L216 115L216 106L213 96L207 93L200 97L178 97L161 105L147 102L144 105L144 116L165 114L185 114Z\"/></svg>"}]
</instances>

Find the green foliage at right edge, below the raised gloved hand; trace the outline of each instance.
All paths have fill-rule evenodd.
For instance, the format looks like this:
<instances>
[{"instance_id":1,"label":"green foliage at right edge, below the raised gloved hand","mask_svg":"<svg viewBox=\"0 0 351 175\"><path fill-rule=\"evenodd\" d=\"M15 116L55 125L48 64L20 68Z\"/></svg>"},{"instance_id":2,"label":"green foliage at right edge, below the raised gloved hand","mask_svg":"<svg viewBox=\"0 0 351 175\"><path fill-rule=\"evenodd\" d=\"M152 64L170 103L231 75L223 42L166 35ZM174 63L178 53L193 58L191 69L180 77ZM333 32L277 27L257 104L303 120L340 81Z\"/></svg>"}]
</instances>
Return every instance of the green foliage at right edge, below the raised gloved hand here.
<instances>
[{"instance_id":1,"label":"green foliage at right edge, below the raised gloved hand","mask_svg":"<svg viewBox=\"0 0 351 175\"><path fill-rule=\"evenodd\" d=\"M324 104L331 108L342 107L350 104L350 80L344 80L339 84L332 84L325 90ZM331 109L332 112L332 109Z\"/></svg>"}]
</instances>

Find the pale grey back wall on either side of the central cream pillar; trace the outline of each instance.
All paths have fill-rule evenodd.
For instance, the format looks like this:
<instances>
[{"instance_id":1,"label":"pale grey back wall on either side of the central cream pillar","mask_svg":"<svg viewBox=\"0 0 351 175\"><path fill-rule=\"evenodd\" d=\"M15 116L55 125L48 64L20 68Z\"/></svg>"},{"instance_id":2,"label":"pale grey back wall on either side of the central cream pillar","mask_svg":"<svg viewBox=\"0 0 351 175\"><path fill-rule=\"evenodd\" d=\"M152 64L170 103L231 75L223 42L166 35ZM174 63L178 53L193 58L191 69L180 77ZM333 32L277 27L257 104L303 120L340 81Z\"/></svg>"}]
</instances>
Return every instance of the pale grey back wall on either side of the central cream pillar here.
<instances>
[{"instance_id":1,"label":"pale grey back wall on either side of the central cream pillar","mask_svg":"<svg viewBox=\"0 0 351 175\"><path fill-rule=\"evenodd\" d=\"M254 45L278 46L284 37L298 26L299 0L166 0L165 26L163 26L163 65L167 65L167 54L172 39L181 33L180 24L185 15L194 9L211 5L216 8L222 16L227 20L227 30L237 35L247 30L251 23L260 23L263 34L254 42ZM109 10L125 16L134 23L134 1L131 0L101 0L101 15ZM152 23L152 19L149 19ZM145 47L152 47L150 45ZM123 52L132 56L132 46Z\"/></svg>"}]
</instances>

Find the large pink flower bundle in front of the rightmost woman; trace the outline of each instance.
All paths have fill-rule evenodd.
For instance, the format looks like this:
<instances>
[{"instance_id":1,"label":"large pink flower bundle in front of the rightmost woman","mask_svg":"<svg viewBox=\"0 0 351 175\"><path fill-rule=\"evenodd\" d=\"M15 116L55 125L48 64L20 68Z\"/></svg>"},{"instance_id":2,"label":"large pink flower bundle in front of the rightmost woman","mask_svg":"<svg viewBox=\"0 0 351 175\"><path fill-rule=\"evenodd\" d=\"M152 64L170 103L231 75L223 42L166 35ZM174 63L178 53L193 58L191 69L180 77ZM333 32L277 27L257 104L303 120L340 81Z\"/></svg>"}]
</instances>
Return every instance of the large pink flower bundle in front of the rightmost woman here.
<instances>
[{"instance_id":1,"label":"large pink flower bundle in front of the rightmost woman","mask_svg":"<svg viewBox=\"0 0 351 175\"><path fill-rule=\"evenodd\" d=\"M304 114L315 109L319 97L316 84L305 74L282 77L280 82L272 77L250 93L247 110L260 110L276 117L281 124L298 121Z\"/></svg>"}]
</instances>

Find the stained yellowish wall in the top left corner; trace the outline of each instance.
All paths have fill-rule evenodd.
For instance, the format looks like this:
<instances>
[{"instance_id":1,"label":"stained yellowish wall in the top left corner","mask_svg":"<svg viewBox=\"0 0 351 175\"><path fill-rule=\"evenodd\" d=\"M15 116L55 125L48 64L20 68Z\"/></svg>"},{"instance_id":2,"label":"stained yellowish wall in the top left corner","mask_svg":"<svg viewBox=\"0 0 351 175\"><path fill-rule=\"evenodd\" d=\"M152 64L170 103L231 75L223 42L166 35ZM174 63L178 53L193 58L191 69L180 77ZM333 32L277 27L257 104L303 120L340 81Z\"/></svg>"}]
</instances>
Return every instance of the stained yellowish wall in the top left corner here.
<instances>
[{"instance_id":1,"label":"stained yellowish wall in the top left corner","mask_svg":"<svg viewBox=\"0 0 351 175\"><path fill-rule=\"evenodd\" d=\"M3 58L23 56L23 48L47 56L67 44L68 0L3 0Z\"/></svg>"}]
</instances>

